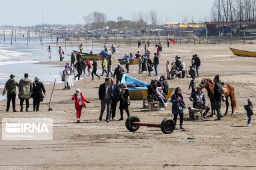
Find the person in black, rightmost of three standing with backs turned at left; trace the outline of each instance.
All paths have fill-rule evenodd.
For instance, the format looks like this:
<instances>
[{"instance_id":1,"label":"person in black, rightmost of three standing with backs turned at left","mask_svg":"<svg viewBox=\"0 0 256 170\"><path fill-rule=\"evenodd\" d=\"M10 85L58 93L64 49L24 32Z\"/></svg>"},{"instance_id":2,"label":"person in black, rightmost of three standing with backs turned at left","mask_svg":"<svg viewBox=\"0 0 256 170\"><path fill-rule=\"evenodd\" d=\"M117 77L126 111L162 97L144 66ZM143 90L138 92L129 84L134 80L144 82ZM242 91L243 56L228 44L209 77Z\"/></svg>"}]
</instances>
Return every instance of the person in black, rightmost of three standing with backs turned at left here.
<instances>
[{"instance_id":1,"label":"person in black, rightmost of three standing with backs turned at left","mask_svg":"<svg viewBox=\"0 0 256 170\"><path fill-rule=\"evenodd\" d=\"M39 77L35 77L31 94L31 98L33 98L33 111L39 112L40 102L43 102L43 98L45 98L43 94L45 94L45 86L43 86L42 82L39 82Z\"/></svg>"}]
</instances>

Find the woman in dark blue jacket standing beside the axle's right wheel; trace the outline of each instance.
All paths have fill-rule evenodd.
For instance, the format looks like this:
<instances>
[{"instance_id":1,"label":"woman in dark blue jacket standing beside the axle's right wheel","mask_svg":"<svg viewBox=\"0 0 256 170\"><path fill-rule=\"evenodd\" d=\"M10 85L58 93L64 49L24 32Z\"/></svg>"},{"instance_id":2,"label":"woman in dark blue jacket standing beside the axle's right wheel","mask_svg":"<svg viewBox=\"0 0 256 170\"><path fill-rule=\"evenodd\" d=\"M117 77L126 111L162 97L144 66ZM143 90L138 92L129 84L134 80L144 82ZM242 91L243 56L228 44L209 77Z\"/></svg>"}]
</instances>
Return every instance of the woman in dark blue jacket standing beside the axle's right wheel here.
<instances>
[{"instance_id":1,"label":"woman in dark blue jacket standing beside the axle's right wheel","mask_svg":"<svg viewBox=\"0 0 256 170\"><path fill-rule=\"evenodd\" d=\"M183 115L184 109L186 108L185 102L183 100L183 96L181 94L181 88L177 87L174 90L174 94L171 95L171 103L173 106L171 107L171 112L174 116L173 120L176 124L178 114L179 114L179 129L185 129L183 127Z\"/></svg>"}]
</instances>

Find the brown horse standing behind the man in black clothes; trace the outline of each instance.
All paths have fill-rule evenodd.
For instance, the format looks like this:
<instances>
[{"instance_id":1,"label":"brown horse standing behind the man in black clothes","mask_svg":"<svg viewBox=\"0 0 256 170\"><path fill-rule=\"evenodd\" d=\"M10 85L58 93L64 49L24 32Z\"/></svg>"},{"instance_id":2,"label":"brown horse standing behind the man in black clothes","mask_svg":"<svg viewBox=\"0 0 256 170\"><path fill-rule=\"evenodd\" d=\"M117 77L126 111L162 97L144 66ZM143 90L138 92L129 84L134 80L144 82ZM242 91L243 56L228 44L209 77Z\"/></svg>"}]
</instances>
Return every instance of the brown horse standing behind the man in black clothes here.
<instances>
[{"instance_id":1,"label":"brown horse standing behind the man in black clothes","mask_svg":"<svg viewBox=\"0 0 256 170\"><path fill-rule=\"evenodd\" d=\"M211 101L211 115L215 114L214 110L214 84L209 78L203 78L201 81L201 85L207 90L208 97ZM235 108L237 109L237 100L235 99L235 89L231 84L225 84L225 88L227 92L225 92L225 98L227 99L226 102L226 112L224 115L227 114L227 111L229 110L229 100L231 100L231 108L232 112L231 115L233 115Z\"/></svg>"}]
</instances>

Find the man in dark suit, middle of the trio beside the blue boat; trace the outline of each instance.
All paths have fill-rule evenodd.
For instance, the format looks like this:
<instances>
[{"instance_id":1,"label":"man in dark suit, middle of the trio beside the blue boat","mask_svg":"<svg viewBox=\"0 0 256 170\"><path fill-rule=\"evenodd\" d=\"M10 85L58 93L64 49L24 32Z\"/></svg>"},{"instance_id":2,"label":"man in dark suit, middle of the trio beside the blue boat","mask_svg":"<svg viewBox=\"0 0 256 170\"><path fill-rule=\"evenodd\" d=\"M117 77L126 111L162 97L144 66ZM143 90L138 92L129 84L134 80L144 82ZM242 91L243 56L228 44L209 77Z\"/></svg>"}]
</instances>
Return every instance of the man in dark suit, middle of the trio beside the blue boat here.
<instances>
[{"instance_id":1,"label":"man in dark suit, middle of the trio beside the blue boat","mask_svg":"<svg viewBox=\"0 0 256 170\"><path fill-rule=\"evenodd\" d=\"M111 102L111 112L110 115L112 117L112 120L115 120L115 111L117 110L117 103L118 103L118 98L119 98L119 94L120 94L120 87L119 84L115 84L114 83L114 78L110 79L110 84L112 86L112 90L113 90L113 99Z\"/></svg>"}]
</instances>

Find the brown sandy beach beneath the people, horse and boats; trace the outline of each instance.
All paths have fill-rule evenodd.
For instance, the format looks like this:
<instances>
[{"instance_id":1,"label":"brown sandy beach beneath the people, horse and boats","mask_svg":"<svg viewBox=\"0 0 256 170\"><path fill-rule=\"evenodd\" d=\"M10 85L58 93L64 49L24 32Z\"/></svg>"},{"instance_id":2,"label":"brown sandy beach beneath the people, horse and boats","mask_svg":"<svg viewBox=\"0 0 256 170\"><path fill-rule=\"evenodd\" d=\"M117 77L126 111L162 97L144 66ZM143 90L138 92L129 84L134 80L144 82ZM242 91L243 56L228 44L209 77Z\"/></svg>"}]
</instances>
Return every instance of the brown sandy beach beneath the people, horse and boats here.
<instances>
[{"instance_id":1,"label":"brown sandy beach beneath the people, horse and boats","mask_svg":"<svg viewBox=\"0 0 256 170\"><path fill-rule=\"evenodd\" d=\"M95 44L100 46L100 44ZM103 45L102 45L103 46ZM109 47L111 44L109 44ZM151 53L156 48L151 45ZM0 118L52 118L53 140L51 141L6 141L1 139L0 169L256 169L254 156L255 118L253 126L247 127L247 116L243 106L247 98L256 101L256 58L235 56L229 50L229 44L182 44L167 48L159 58L159 76L165 72L165 63L175 60L179 55L189 68L193 54L201 58L200 76L195 79L198 85L202 78L214 78L219 74L221 82L232 84L239 110L231 116L231 108L221 121L209 118L203 121L191 121L189 110L185 109L183 126L185 130L175 130L166 135L160 128L141 127L130 132L124 121L119 119L119 110L115 120L106 123L99 122L100 101L98 97L100 80L91 81L91 76L81 76L83 80L75 81L71 90L63 90L62 84L55 84L51 98L51 108L48 111L49 98L53 84L45 85L46 96L41 103L40 112L5 112L6 101L0 101ZM137 50L143 53L143 48L137 46L121 46L113 57L122 57L126 52ZM253 50L254 44L233 43L231 46L241 50ZM69 58L69 56L67 56ZM59 64L65 62L45 62L40 64ZM112 70L117 66L115 60ZM99 62L98 62L98 65ZM125 68L124 65L122 65ZM64 68L64 67L63 67ZM147 73L138 74L138 66L130 65L129 75L150 82L154 76ZM151 75L154 75L152 72ZM31 78L31 77L30 77ZM33 78L31 78L33 80ZM169 86L180 87L188 106L191 90L188 90L191 78L168 80ZM72 95L75 88L91 102L84 108L81 124L76 124L76 112ZM0 90L3 92L3 90ZM207 91L203 92L207 96ZM30 100L30 110L33 110L33 100ZM209 104L209 98L207 97ZM119 106L119 104L117 105ZM19 100L16 109L19 110ZM173 118L171 104L165 111L149 112L143 108L142 100L131 101L131 115L138 116L141 122L160 124L165 118ZM221 111L225 112L225 103ZM103 118L105 118L105 114ZM125 119L127 118L126 114ZM209 115L209 114L208 114ZM179 120L177 121L179 122ZM2 129L2 128L1 128Z\"/></svg>"}]
</instances>

